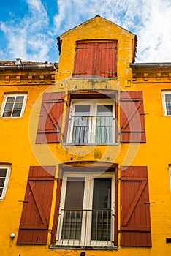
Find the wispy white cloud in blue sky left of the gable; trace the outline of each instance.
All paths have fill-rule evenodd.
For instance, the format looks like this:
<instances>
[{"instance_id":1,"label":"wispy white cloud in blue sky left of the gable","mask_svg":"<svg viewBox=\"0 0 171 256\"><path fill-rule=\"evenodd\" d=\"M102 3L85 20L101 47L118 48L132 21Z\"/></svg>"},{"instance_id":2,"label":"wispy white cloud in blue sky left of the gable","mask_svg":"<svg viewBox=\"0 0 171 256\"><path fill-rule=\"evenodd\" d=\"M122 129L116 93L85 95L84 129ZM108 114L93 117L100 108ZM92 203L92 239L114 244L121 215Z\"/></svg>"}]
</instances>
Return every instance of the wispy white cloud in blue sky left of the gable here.
<instances>
[{"instance_id":1,"label":"wispy white cloud in blue sky left of the gable","mask_svg":"<svg viewBox=\"0 0 171 256\"><path fill-rule=\"evenodd\" d=\"M8 39L5 56L10 59L20 57L22 60L48 61L48 51L51 38L45 34L48 27L48 17L40 0L26 0L29 12L18 22L1 23L1 31Z\"/></svg>"}]
</instances>

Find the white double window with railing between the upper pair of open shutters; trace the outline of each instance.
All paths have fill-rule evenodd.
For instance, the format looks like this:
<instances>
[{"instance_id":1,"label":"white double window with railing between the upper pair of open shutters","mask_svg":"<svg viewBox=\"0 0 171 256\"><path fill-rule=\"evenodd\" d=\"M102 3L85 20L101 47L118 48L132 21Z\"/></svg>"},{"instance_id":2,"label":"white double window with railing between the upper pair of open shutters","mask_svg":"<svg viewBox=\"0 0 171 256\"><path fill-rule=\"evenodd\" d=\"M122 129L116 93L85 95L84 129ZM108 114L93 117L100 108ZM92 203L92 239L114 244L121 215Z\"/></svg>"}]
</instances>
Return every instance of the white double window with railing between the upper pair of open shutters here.
<instances>
[{"instance_id":1,"label":"white double window with railing between the upper pair of open shutters","mask_svg":"<svg viewBox=\"0 0 171 256\"><path fill-rule=\"evenodd\" d=\"M115 143L115 104L112 99L73 100L67 143Z\"/></svg>"}]
</instances>

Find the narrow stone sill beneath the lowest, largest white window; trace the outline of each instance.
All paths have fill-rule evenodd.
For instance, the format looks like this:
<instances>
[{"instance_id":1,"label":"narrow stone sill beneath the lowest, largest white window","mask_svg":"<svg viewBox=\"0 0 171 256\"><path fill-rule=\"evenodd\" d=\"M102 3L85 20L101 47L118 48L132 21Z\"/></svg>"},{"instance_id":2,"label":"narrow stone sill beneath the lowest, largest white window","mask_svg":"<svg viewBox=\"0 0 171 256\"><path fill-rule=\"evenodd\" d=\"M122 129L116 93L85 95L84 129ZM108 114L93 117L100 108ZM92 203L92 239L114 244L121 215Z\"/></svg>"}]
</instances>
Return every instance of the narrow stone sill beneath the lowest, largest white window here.
<instances>
[{"instance_id":1,"label":"narrow stone sill beneath the lowest, largest white window","mask_svg":"<svg viewBox=\"0 0 171 256\"><path fill-rule=\"evenodd\" d=\"M49 249L86 249L86 250L118 250L118 246L61 246L50 244Z\"/></svg>"}]
</instances>

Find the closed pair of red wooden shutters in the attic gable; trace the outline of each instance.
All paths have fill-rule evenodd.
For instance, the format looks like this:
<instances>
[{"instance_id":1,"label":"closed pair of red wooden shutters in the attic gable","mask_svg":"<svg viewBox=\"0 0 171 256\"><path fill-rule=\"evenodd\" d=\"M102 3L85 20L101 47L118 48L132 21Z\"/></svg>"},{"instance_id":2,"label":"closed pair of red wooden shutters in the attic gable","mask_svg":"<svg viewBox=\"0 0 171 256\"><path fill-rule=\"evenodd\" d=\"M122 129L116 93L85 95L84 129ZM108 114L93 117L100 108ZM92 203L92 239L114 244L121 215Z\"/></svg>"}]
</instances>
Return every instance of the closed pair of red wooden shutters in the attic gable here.
<instances>
[{"instance_id":1,"label":"closed pair of red wooden shutters in the attic gable","mask_svg":"<svg viewBox=\"0 0 171 256\"><path fill-rule=\"evenodd\" d=\"M77 42L75 78L115 78L117 76L117 42Z\"/></svg>"}]
</instances>

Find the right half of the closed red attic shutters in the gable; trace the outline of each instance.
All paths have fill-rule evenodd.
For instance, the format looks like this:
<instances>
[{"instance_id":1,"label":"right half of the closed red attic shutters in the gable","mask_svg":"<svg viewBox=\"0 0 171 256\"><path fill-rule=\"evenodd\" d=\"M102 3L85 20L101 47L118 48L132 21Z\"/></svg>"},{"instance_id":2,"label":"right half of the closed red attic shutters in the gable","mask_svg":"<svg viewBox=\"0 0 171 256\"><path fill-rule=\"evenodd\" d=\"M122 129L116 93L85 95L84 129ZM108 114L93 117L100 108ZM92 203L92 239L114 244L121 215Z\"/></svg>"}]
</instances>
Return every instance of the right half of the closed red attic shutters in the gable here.
<instances>
[{"instance_id":1,"label":"right half of the closed red attic shutters in the gable","mask_svg":"<svg viewBox=\"0 0 171 256\"><path fill-rule=\"evenodd\" d=\"M94 75L114 78L117 75L116 42L96 43L94 57Z\"/></svg>"}]
</instances>

